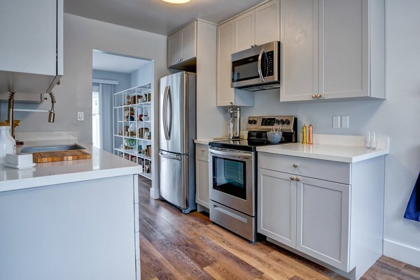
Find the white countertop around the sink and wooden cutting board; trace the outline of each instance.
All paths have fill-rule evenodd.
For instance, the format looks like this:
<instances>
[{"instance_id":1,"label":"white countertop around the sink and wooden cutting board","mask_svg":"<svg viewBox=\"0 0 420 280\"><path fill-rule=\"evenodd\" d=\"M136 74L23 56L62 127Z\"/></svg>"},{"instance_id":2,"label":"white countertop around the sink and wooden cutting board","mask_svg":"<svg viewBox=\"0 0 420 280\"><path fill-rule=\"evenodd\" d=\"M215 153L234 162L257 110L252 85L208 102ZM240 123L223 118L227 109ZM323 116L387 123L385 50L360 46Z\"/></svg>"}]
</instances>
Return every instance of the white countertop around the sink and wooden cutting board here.
<instances>
[{"instance_id":1,"label":"white countertop around the sink and wooden cutting board","mask_svg":"<svg viewBox=\"0 0 420 280\"><path fill-rule=\"evenodd\" d=\"M136 163L75 140L25 142L23 147L66 145L75 142L85 147L85 151L92 155L92 159L37 163L33 168L28 169L9 168L0 164L0 192L141 172Z\"/></svg>"}]
</instances>

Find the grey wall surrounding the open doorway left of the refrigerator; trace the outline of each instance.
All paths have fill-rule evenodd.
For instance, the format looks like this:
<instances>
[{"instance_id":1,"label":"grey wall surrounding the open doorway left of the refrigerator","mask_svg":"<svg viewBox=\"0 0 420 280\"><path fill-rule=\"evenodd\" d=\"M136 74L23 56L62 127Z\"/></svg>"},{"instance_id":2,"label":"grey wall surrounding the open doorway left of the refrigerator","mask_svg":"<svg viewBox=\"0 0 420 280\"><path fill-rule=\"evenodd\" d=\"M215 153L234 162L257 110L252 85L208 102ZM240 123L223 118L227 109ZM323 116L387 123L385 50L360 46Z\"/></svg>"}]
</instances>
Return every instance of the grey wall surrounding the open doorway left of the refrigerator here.
<instances>
[{"instance_id":1,"label":"grey wall surrounding the open doorway left of the refrigerator","mask_svg":"<svg viewBox=\"0 0 420 280\"><path fill-rule=\"evenodd\" d=\"M54 89L55 123L48 124L47 113L17 112L18 131L78 131L79 140L92 142L92 50L154 60L156 89L158 78L169 73L166 36L64 14L64 76ZM49 102L24 106L50 109ZM85 121L76 120L78 111L85 112Z\"/></svg>"}]
</instances>

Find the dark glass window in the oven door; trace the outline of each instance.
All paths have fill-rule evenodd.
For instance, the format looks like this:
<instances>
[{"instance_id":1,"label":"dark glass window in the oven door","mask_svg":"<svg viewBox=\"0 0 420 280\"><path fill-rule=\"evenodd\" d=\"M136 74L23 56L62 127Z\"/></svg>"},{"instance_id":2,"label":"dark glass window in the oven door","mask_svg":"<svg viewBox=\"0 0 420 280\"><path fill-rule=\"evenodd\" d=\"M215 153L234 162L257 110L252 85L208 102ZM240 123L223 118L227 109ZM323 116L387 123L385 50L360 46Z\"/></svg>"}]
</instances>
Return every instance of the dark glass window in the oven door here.
<instances>
[{"instance_id":1,"label":"dark glass window in the oven door","mask_svg":"<svg viewBox=\"0 0 420 280\"><path fill-rule=\"evenodd\" d=\"M213 157L213 189L246 200L246 163Z\"/></svg>"}]
</instances>

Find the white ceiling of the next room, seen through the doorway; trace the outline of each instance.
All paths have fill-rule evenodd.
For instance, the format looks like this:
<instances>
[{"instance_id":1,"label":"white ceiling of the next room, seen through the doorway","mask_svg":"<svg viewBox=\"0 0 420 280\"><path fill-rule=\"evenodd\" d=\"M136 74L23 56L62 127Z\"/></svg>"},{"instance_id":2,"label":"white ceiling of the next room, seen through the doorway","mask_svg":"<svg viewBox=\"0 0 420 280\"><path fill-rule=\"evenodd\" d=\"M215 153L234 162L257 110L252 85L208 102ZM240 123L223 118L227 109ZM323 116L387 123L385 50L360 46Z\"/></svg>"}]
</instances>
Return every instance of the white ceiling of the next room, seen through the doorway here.
<instances>
[{"instance_id":1,"label":"white ceiling of the next room, seen through the doorway","mask_svg":"<svg viewBox=\"0 0 420 280\"><path fill-rule=\"evenodd\" d=\"M132 73L147 64L148 60L109 54L100 50L92 52L92 69L118 73Z\"/></svg>"}]
</instances>

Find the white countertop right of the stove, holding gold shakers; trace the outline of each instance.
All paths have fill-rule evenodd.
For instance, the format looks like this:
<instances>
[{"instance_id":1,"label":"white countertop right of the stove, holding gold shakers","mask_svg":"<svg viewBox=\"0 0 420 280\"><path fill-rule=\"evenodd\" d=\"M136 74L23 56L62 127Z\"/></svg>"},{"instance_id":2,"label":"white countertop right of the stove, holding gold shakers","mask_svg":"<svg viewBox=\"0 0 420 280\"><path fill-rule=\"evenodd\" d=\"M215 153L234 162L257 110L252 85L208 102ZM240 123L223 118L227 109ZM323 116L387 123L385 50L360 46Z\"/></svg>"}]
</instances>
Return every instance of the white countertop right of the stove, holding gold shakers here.
<instances>
[{"instance_id":1,"label":"white countertop right of the stove, holding gold shakers","mask_svg":"<svg viewBox=\"0 0 420 280\"><path fill-rule=\"evenodd\" d=\"M286 156L302 156L310 159L323 159L326 161L340 161L344 163L356 163L377 156L388 154L388 138L379 141L377 149L367 149L361 145L359 136L346 135L318 135L319 142L313 145L302 143L290 143L282 145L270 145L257 147L257 152L283 154ZM341 143L342 145L333 145Z\"/></svg>"}]
</instances>

